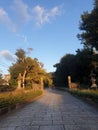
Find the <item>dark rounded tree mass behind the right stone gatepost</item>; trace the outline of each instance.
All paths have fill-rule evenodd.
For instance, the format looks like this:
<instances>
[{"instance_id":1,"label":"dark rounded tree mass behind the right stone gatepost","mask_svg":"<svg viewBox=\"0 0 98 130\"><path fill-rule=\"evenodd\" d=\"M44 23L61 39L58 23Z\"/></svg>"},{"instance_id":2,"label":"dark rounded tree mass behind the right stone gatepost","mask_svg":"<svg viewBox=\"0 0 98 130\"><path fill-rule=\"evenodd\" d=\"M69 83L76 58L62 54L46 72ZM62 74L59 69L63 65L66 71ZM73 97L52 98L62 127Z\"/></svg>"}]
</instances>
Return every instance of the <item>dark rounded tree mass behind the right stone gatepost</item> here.
<instances>
[{"instance_id":1,"label":"dark rounded tree mass behind the right stone gatepost","mask_svg":"<svg viewBox=\"0 0 98 130\"><path fill-rule=\"evenodd\" d=\"M72 82L90 86L91 70L95 70L96 78L98 75L98 68L95 66L98 61L94 61L94 58L95 55L88 48L78 49L76 55L67 54L63 56L60 63L55 65L56 72L53 76L55 86L67 86L69 75L72 78Z\"/></svg>"}]
</instances>

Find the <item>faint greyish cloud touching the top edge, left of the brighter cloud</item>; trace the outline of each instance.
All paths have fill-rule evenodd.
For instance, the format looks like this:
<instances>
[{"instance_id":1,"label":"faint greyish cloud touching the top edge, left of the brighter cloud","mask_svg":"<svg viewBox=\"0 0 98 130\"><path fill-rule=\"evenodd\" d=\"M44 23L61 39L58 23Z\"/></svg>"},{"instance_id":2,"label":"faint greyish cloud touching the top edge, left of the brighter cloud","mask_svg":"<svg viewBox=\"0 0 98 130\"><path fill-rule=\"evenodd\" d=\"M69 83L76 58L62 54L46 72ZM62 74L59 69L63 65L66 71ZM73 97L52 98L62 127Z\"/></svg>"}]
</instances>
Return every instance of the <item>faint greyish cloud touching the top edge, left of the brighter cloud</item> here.
<instances>
[{"instance_id":1,"label":"faint greyish cloud touching the top edge, left of the brighter cloud","mask_svg":"<svg viewBox=\"0 0 98 130\"><path fill-rule=\"evenodd\" d=\"M18 20L28 22L31 19L29 7L22 0L14 0L12 7L17 14Z\"/></svg>"}]
</instances>

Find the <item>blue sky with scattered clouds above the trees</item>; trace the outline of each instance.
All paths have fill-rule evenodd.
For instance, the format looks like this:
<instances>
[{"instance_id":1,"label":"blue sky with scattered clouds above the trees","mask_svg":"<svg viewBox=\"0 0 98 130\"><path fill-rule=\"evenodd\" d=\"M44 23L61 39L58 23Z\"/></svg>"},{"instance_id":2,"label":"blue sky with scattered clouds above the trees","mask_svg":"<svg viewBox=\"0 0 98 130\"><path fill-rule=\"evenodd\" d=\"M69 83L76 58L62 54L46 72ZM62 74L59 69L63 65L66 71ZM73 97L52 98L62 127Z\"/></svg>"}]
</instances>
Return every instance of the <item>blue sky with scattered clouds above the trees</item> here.
<instances>
[{"instance_id":1,"label":"blue sky with scattered clouds above the trees","mask_svg":"<svg viewBox=\"0 0 98 130\"><path fill-rule=\"evenodd\" d=\"M0 0L0 73L8 73L19 48L54 72L64 55L83 47L79 22L93 5L93 0Z\"/></svg>"}]
</instances>

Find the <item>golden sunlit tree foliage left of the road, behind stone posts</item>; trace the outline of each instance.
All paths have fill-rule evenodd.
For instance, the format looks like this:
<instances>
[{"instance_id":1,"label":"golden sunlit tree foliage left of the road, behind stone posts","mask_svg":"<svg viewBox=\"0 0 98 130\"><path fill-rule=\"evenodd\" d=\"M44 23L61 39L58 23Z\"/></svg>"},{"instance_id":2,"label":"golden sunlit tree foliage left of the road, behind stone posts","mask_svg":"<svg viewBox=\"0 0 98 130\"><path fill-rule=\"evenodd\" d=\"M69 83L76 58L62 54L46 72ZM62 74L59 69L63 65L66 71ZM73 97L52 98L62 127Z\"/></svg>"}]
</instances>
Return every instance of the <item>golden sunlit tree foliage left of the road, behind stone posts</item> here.
<instances>
[{"instance_id":1,"label":"golden sunlit tree foliage left of the road, behind stone posts","mask_svg":"<svg viewBox=\"0 0 98 130\"><path fill-rule=\"evenodd\" d=\"M21 74L22 85L24 83L26 88L32 88L34 83L40 84L41 78L43 78L45 85L46 81L48 86L52 85L52 79L37 58L26 57L26 52L23 49L17 49L16 56L16 63L9 68L12 86L17 86L19 74Z\"/></svg>"}]
</instances>

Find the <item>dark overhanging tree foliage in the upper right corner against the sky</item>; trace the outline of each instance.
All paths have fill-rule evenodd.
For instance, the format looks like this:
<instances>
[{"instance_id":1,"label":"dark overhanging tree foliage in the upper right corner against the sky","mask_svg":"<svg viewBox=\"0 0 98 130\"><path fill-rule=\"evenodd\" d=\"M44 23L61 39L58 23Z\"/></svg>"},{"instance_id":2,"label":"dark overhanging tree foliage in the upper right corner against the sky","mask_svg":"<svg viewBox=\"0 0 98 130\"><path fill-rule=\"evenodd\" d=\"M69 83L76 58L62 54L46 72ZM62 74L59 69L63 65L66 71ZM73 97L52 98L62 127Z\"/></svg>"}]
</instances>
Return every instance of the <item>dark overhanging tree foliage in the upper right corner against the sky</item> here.
<instances>
[{"instance_id":1,"label":"dark overhanging tree foliage in the upper right corner against the sky","mask_svg":"<svg viewBox=\"0 0 98 130\"><path fill-rule=\"evenodd\" d=\"M84 12L81 15L79 28L82 31L78 34L81 43L85 47L95 47L98 50L98 0L95 0L94 9L90 13Z\"/></svg>"}]
</instances>

